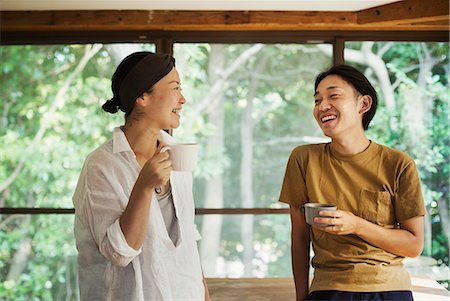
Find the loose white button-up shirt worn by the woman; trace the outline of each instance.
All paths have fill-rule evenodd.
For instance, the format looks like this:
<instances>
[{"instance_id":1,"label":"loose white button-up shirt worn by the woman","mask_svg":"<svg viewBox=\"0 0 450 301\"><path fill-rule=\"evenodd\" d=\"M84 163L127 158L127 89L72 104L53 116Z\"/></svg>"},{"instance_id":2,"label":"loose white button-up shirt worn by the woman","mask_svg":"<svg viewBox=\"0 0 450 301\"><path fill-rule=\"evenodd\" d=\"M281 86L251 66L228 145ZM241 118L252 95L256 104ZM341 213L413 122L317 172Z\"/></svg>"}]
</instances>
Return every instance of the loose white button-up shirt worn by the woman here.
<instances>
[{"instance_id":1,"label":"loose white button-up shirt worn by the woman","mask_svg":"<svg viewBox=\"0 0 450 301\"><path fill-rule=\"evenodd\" d=\"M170 143L173 137L161 131L160 140ZM153 195L147 237L135 250L119 218L140 170L120 128L86 158L73 196L81 300L203 300L192 174L170 176L180 230L176 245Z\"/></svg>"}]
</instances>

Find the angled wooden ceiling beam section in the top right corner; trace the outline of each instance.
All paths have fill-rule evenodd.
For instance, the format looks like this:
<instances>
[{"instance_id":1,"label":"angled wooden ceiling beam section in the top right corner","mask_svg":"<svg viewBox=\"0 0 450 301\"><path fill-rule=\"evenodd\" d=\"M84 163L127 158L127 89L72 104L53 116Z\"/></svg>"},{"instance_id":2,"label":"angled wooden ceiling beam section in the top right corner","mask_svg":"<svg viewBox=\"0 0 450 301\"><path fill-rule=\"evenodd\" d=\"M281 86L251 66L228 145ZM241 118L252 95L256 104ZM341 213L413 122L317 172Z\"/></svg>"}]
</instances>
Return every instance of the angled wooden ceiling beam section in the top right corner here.
<instances>
[{"instance_id":1,"label":"angled wooden ceiling beam section in the top right corner","mask_svg":"<svg viewBox=\"0 0 450 301\"><path fill-rule=\"evenodd\" d=\"M357 23L367 24L430 24L434 21L449 22L448 0L405 0L357 13Z\"/></svg>"}]
</instances>

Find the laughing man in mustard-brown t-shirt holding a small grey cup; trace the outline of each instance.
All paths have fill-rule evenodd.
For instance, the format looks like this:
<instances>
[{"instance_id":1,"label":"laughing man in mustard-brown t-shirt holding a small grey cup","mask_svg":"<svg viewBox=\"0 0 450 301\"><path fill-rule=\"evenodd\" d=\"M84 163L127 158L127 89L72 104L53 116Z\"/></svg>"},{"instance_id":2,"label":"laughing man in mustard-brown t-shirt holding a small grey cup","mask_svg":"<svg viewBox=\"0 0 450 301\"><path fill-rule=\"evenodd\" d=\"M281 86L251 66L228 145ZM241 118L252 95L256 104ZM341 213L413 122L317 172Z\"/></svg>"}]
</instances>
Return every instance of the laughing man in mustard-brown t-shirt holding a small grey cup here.
<instances>
[{"instance_id":1,"label":"laughing man in mustard-brown t-shirt holding a small grey cup","mask_svg":"<svg viewBox=\"0 0 450 301\"><path fill-rule=\"evenodd\" d=\"M355 68L319 74L314 103L331 142L293 150L280 194L290 205L297 300L413 300L402 260L421 253L425 215L414 161L367 138L377 95ZM309 226L301 210L308 202L338 210L315 218L327 226Z\"/></svg>"}]
</instances>

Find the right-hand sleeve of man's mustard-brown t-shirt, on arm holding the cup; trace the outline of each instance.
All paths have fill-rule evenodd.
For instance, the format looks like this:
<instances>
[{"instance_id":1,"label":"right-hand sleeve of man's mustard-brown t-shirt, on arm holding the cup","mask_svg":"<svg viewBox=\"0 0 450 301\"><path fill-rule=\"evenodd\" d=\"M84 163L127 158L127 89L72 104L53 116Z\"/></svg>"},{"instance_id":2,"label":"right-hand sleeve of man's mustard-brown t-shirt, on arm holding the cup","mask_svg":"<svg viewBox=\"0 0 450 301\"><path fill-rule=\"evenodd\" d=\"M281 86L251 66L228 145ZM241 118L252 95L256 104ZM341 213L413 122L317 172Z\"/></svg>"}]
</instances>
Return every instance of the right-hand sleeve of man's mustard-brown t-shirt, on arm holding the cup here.
<instances>
[{"instance_id":1,"label":"right-hand sleeve of man's mustard-brown t-shirt, on arm holding the cup","mask_svg":"<svg viewBox=\"0 0 450 301\"><path fill-rule=\"evenodd\" d=\"M411 161L398 176L395 195L395 212L399 222L426 214L422 187L416 164Z\"/></svg>"}]
</instances>

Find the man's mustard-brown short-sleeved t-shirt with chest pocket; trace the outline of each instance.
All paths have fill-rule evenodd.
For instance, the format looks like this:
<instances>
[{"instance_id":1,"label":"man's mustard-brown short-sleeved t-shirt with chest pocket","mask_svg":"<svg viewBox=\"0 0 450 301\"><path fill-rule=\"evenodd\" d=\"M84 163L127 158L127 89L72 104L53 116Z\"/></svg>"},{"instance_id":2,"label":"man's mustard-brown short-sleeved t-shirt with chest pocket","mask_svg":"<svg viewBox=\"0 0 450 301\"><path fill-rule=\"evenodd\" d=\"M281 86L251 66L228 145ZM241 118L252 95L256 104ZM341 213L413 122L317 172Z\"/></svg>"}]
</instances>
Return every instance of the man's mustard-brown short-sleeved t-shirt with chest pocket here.
<instances>
[{"instance_id":1,"label":"man's mustard-brown short-sleeved t-shirt with chest pocket","mask_svg":"<svg viewBox=\"0 0 450 301\"><path fill-rule=\"evenodd\" d=\"M289 158L280 201L337 205L385 228L425 215L420 179L405 153L371 142L356 155L342 155L330 143L303 145ZM376 292L411 290L404 257L375 247L356 235L311 228L314 278L310 291ZM392 238L395 240L395 237Z\"/></svg>"}]
</instances>

